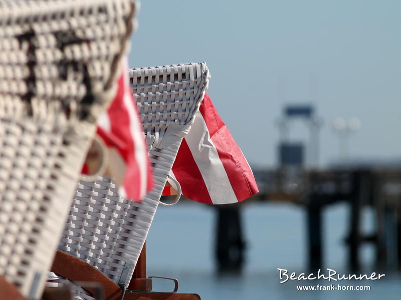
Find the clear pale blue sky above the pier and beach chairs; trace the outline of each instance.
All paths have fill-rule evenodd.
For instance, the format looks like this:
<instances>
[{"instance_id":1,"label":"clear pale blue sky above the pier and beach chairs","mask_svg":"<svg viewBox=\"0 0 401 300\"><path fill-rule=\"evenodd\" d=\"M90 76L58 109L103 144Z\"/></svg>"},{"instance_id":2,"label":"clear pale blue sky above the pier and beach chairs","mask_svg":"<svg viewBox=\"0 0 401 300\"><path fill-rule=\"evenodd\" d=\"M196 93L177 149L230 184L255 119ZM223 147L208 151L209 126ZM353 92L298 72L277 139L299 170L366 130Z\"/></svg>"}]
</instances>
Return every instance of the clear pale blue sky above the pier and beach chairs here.
<instances>
[{"instance_id":1,"label":"clear pale blue sky above the pier and beach chairs","mask_svg":"<svg viewBox=\"0 0 401 300\"><path fill-rule=\"evenodd\" d=\"M206 61L209 95L251 164L275 165L275 120L312 102L324 119L321 165L339 156L331 128L356 116L350 157L401 157L401 1L146 1L132 67ZM295 122L292 138L307 140Z\"/></svg>"}]
</instances>

